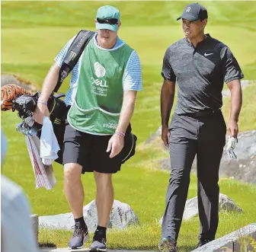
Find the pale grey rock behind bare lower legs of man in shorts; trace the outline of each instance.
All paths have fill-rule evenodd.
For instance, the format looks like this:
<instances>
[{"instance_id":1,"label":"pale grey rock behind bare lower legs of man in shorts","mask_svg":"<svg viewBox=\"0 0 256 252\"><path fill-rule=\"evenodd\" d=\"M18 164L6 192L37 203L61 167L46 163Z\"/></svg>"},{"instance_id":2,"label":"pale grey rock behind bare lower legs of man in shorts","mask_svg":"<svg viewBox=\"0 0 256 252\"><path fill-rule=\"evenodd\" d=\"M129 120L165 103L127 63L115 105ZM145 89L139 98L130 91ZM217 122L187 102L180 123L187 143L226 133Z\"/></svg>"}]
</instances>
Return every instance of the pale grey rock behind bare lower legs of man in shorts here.
<instances>
[{"instance_id":1,"label":"pale grey rock behind bare lower legs of man in shorts","mask_svg":"<svg viewBox=\"0 0 256 252\"><path fill-rule=\"evenodd\" d=\"M85 216L85 223L88 225L88 230L90 232L95 231L98 225L95 200L84 206L83 212ZM123 229L129 225L138 224L139 219L133 212L133 209L126 203L121 203L118 200L114 200L107 227ZM40 216L39 225L40 228L72 229L74 219L71 212L59 215Z\"/></svg>"}]
</instances>

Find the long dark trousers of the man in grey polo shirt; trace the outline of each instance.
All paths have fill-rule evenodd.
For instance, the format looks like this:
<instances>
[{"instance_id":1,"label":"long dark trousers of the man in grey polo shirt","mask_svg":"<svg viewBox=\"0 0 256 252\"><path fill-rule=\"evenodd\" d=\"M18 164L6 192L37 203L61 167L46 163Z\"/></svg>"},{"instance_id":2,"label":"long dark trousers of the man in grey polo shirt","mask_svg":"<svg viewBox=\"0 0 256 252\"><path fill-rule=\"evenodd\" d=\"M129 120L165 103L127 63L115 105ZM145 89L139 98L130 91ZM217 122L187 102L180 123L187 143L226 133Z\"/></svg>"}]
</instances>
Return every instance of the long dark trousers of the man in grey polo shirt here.
<instances>
[{"instance_id":1,"label":"long dark trousers of the man in grey polo shirt","mask_svg":"<svg viewBox=\"0 0 256 252\"><path fill-rule=\"evenodd\" d=\"M200 239L214 239L219 222L219 163L226 142L222 112L191 117L174 114L170 125L171 178L166 193L162 237L178 239L190 170L197 155Z\"/></svg>"}]
</instances>

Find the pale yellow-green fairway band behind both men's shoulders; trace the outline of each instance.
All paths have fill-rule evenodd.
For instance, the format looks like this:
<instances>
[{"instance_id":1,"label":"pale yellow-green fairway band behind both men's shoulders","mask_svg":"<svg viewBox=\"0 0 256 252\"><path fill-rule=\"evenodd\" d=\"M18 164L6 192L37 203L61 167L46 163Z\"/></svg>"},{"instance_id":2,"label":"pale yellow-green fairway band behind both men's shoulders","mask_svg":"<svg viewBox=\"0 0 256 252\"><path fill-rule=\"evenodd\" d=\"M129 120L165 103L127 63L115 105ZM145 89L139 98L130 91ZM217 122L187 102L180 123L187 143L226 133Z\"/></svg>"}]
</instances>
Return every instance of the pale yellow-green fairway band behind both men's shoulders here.
<instances>
[{"instance_id":1,"label":"pale yellow-green fairway band behind both men's shoulders","mask_svg":"<svg viewBox=\"0 0 256 252\"><path fill-rule=\"evenodd\" d=\"M94 27L42 27L39 33L35 27L2 28L2 64L50 65L62 46L83 28L94 30ZM256 47L251 43L255 37L254 31L242 27L213 25L209 26L207 32L229 45L241 65L255 61L252 55L256 55ZM236 37L237 33L239 37ZM181 39L182 30L180 25L125 27L123 24L119 34L120 38L139 53L142 65L162 65L165 49ZM39 41L44 43L38 44Z\"/></svg>"}]
</instances>

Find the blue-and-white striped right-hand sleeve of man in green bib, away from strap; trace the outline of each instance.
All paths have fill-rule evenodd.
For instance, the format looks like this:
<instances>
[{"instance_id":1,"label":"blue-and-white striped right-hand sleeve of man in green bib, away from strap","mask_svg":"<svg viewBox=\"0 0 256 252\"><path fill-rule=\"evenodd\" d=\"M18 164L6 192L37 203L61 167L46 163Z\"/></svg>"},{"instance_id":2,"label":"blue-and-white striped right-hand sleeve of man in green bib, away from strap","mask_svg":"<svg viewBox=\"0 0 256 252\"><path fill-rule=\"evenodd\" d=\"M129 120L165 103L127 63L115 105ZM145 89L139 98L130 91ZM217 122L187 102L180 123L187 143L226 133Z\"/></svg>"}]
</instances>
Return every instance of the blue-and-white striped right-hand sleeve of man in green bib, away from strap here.
<instances>
[{"instance_id":1,"label":"blue-and-white striped right-hand sleeve of man in green bib, away from strap","mask_svg":"<svg viewBox=\"0 0 256 252\"><path fill-rule=\"evenodd\" d=\"M142 69L136 51L130 55L123 73L123 91L142 90Z\"/></svg>"}]
</instances>

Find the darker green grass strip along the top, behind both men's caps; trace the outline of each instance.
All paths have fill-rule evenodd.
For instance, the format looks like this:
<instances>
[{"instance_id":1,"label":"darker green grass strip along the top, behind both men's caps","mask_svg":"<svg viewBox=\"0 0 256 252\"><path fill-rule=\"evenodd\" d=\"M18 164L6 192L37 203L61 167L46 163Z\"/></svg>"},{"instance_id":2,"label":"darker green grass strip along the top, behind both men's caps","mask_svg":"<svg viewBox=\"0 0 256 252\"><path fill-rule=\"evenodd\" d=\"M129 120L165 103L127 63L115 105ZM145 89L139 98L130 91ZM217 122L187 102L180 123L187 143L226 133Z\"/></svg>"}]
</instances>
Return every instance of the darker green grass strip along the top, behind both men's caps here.
<instances>
[{"instance_id":1,"label":"darker green grass strip along the top, behind both men's caps","mask_svg":"<svg viewBox=\"0 0 256 252\"><path fill-rule=\"evenodd\" d=\"M190 2L6 2L2 1L2 27L80 27L93 25L101 5L120 9L123 23L129 27L177 23L184 6ZM210 24L234 24L255 29L255 2L203 2ZM43 10L43 11L42 11ZM63 18L65 17L65 18Z\"/></svg>"}]
</instances>

